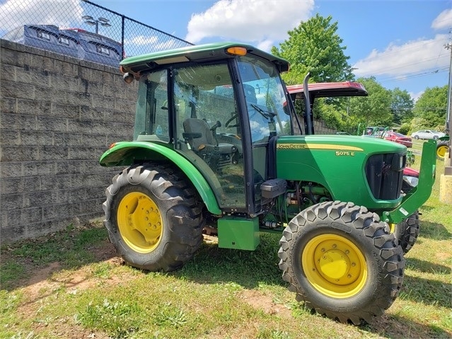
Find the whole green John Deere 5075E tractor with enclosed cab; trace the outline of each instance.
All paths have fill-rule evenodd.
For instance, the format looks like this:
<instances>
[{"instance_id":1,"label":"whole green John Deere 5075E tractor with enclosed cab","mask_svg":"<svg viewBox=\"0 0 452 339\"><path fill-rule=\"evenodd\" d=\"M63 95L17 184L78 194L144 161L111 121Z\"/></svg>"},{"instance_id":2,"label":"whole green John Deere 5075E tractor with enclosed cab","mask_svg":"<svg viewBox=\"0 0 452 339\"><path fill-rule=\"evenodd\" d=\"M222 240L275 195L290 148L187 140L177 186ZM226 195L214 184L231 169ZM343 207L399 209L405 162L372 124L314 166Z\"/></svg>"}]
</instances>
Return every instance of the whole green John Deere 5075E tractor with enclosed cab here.
<instances>
[{"instance_id":1,"label":"whole green John Deere 5075E tractor with enclosed cab","mask_svg":"<svg viewBox=\"0 0 452 339\"><path fill-rule=\"evenodd\" d=\"M405 146L314 135L310 113L303 133L280 77L284 59L220 42L129 57L120 68L138 82L134 137L112 144L100 165L127 166L103 204L126 263L176 270L204 231L219 248L248 251L260 232L277 232L282 278L308 308L359 324L393 304L405 258L389 224L431 194L435 143L424 144L419 183L402 194Z\"/></svg>"}]
</instances>

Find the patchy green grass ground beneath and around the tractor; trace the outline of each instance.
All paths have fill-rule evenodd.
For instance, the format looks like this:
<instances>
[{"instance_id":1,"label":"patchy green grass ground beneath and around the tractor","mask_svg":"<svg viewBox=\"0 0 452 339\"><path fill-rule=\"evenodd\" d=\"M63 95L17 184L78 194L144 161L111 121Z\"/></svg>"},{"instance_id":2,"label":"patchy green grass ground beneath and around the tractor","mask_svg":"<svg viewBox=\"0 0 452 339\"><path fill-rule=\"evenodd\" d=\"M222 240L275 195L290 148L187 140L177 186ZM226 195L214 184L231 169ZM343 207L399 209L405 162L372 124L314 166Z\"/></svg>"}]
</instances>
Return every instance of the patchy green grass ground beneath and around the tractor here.
<instances>
[{"instance_id":1,"label":"patchy green grass ground beneath and around the tractor","mask_svg":"<svg viewBox=\"0 0 452 339\"><path fill-rule=\"evenodd\" d=\"M451 338L450 211L437 176L400 296L362 326L295 301L277 266L279 234L262 234L256 251L204 242L182 269L161 273L122 265L100 223L68 226L2 246L0 338Z\"/></svg>"}]
</instances>

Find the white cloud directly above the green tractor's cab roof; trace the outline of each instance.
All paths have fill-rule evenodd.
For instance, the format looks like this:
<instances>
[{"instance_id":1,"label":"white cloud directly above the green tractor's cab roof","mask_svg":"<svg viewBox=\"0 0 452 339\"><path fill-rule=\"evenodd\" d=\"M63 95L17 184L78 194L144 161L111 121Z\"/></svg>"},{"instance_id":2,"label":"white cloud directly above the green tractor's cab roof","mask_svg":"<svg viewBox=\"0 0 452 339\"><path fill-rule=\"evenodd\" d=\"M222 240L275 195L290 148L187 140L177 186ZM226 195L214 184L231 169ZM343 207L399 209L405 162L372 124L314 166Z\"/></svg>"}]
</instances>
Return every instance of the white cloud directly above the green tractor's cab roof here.
<instances>
[{"instance_id":1,"label":"white cloud directly above the green tractor's cab roof","mask_svg":"<svg viewBox=\"0 0 452 339\"><path fill-rule=\"evenodd\" d=\"M221 37L269 50L275 40L286 39L288 30L308 20L313 8L313 0L220 0L192 15L185 40Z\"/></svg>"}]
</instances>

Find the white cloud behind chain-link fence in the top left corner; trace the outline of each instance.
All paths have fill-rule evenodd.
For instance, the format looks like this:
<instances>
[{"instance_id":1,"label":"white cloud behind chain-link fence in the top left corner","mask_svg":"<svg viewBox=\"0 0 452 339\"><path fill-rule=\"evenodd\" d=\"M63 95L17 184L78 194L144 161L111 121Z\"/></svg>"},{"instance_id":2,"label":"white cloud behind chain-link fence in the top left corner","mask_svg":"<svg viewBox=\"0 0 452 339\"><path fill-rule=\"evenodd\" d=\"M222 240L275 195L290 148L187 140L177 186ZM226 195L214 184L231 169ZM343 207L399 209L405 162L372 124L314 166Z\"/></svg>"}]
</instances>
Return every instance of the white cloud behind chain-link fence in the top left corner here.
<instances>
[{"instance_id":1,"label":"white cloud behind chain-link fence in the top left corner","mask_svg":"<svg viewBox=\"0 0 452 339\"><path fill-rule=\"evenodd\" d=\"M30 23L70 27L81 16L79 0L9 0L0 4L0 30Z\"/></svg>"}]
</instances>

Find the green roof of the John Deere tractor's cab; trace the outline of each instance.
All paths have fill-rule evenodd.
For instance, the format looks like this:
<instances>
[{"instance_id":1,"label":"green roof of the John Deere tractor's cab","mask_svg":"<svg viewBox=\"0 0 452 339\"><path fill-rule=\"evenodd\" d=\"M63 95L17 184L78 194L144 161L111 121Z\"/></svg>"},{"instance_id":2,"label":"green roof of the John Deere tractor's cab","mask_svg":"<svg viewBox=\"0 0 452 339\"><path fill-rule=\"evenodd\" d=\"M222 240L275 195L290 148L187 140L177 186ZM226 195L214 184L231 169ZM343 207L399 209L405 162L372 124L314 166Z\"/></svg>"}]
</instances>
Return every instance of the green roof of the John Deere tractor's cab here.
<instances>
[{"instance_id":1,"label":"green roof of the John Deere tractor's cab","mask_svg":"<svg viewBox=\"0 0 452 339\"><path fill-rule=\"evenodd\" d=\"M181 47L174 50L164 50L149 54L127 57L120 62L122 71L132 71L137 73L146 69L153 69L162 64L175 64L179 62L208 62L219 59L236 57L226 50L229 47L244 47L247 54L262 57L274 63L280 72L289 70L289 62L273 54L264 52L251 45L245 45L240 42L214 42L204 45L192 45Z\"/></svg>"}]
</instances>

